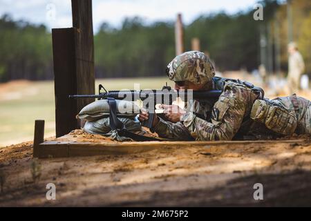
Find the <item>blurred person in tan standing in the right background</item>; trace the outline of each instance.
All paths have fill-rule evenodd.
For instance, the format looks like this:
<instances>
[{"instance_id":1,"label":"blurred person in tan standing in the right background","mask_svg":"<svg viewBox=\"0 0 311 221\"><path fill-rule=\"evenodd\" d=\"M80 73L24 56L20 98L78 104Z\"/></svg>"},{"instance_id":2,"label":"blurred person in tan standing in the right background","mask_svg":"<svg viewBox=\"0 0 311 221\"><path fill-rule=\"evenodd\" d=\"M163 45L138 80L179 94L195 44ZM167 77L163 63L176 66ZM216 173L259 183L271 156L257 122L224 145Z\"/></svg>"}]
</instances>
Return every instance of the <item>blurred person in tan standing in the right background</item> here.
<instances>
[{"instance_id":1,"label":"blurred person in tan standing in the right background","mask_svg":"<svg viewBox=\"0 0 311 221\"><path fill-rule=\"evenodd\" d=\"M305 64L295 42L288 44L288 53L290 54L288 59L288 87L290 93L296 93L301 89L300 80Z\"/></svg>"}]
</instances>

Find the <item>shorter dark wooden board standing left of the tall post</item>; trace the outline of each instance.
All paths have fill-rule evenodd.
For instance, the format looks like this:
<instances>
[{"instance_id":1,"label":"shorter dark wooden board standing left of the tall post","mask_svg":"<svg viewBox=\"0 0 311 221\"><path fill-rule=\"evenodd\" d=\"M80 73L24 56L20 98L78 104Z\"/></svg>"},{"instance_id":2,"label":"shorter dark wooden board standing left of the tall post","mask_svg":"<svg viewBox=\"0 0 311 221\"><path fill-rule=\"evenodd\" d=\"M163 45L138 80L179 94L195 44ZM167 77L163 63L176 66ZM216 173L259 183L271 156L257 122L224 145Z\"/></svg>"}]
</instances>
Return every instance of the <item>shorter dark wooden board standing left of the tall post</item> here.
<instances>
[{"instance_id":1,"label":"shorter dark wooden board standing left of the tall post","mask_svg":"<svg viewBox=\"0 0 311 221\"><path fill-rule=\"evenodd\" d=\"M73 32L73 28L52 29L56 137L79 128L75 119L77 100L68 98L68 95L77 94Z\"/></svg>"}]
</instances>

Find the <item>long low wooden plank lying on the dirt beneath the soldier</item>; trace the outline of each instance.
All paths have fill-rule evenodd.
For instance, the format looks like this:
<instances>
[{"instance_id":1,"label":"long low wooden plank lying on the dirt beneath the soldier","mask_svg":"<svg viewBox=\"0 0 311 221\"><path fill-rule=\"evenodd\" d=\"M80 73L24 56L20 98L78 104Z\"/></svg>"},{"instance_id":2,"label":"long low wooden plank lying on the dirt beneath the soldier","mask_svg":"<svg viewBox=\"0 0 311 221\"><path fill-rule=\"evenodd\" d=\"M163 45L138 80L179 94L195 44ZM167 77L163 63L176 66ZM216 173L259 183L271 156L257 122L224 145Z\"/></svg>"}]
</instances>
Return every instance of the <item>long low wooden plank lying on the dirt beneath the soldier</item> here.
<instances>
[{"instance_id":1,"label":"long low wooden plank lying on the dirt beneath the soldier","mask_svg":"<svg viewBox=\"0 0 311 221\"><path fill-rule=\"evenodd\" d=\"M124 155L151 151L154 149L233 146L261 144L302 143L305 140L254 140L254 141L211 141L211 142L44 142L39 144L39 157L75 157L92 155Z\"/></svg>"}]
</instances>

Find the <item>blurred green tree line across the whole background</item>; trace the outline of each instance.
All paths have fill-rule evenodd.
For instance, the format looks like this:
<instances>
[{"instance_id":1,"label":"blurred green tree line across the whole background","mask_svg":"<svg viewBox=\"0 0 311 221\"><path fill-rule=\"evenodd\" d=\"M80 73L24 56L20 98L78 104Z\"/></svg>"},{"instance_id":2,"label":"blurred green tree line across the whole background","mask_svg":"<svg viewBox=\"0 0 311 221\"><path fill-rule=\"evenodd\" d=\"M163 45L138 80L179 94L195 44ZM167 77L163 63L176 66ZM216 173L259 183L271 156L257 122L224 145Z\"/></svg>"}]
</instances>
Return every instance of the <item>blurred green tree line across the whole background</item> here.
<instances>
[{"instance_id":1,"label":"blurred green tree line across the whole background","mask_svg":"<svg viewBox=\"0 0 311 221\"><path fill-rule=\"evenodd\" d=\"M201 50L211 57L217 70L245 68L251 71L258 68L265 57L271 60L273 72L279 56L281 70L286 71L286 5L272 0L261 3L263 21L253 19L253 8L235 15L218 12L198 16L184 28L185 50L191 50L191 39L197 37ZM311 6L308 0L292 4L294 39L310 73ZM279 37L274 35L276 28ZM264 48L263 39L267 42ZM140 17L125 19L121 28L102 23L94 35L94 46L96 77L164 75L167 64L175 57L174 23L145 24ZM12 79L53 79L52 37L44 25L14 21L9 15L3 15L0 18L0 81Z\"/></svg>"}]
</instances>

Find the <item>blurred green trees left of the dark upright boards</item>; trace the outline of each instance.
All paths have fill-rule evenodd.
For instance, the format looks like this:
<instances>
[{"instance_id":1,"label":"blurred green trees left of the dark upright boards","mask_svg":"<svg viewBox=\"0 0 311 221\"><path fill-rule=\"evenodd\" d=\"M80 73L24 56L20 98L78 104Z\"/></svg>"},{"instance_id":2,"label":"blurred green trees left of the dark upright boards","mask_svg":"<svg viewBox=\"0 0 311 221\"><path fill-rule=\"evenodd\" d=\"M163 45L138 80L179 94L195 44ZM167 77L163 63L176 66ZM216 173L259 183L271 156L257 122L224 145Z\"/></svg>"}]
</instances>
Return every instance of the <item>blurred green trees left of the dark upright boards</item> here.
<instances>
[{"instance_id":1,"label":"blurred green trees left of the dark upright boards","mask_svg":"<svg viewBox=\"0 0 311 221\"><path fill-rule=\"evenodd\" d=\"M52 39L46 27L0 19L0 81L53 79Z\"/></svg>"}]
</instances>

